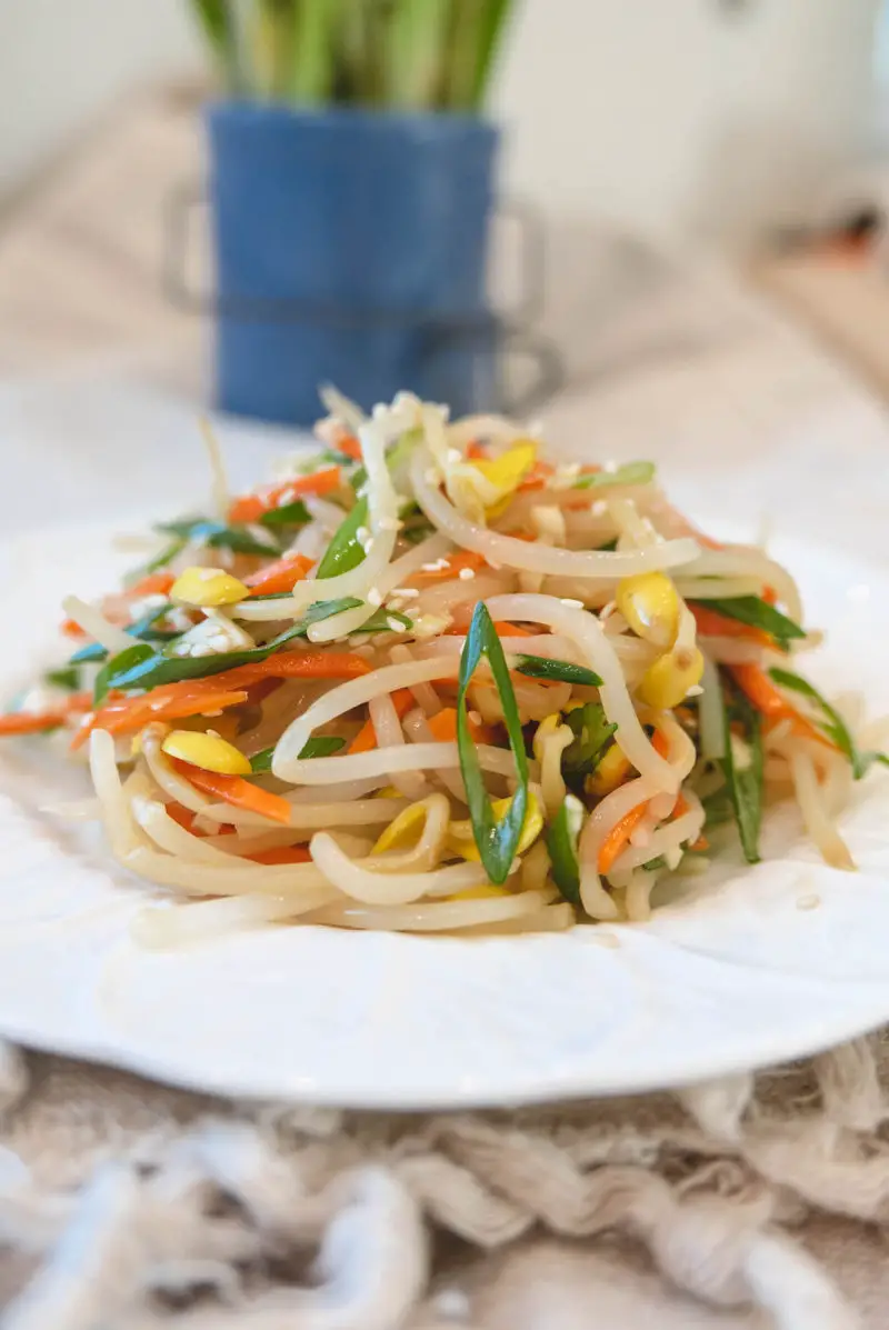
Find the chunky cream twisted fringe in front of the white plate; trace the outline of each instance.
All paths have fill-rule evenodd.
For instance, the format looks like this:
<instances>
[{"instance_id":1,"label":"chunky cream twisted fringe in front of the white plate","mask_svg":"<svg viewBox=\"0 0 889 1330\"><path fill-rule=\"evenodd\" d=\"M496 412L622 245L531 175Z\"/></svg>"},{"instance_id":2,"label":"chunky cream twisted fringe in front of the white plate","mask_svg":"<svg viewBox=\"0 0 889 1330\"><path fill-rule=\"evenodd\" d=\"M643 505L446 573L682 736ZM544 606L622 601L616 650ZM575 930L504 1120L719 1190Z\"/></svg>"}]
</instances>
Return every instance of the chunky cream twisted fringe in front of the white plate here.
<instances>
[{"instance_id":1,"label":"chunky cream twisted fringe in front of the white plate","mask_svg":"<svg viewBox=\"0 0 889 1330\"><path fill-rule=\"evenodd\" d=\"M672 1096L395 1116L0 1047L1 1326L487 1330L456 1291L472 1249L548 1232L624 1234L777 1330L853 1330L793 1229L814 1209L889 1222L884 1069L874 1037Z\"/></svg>"}]
</instances>

